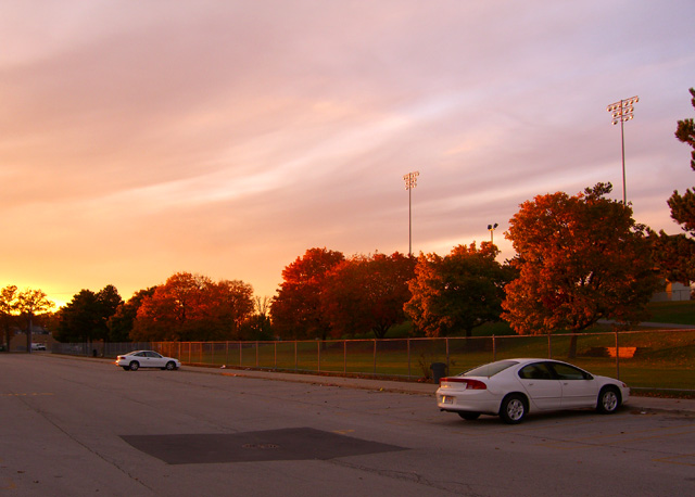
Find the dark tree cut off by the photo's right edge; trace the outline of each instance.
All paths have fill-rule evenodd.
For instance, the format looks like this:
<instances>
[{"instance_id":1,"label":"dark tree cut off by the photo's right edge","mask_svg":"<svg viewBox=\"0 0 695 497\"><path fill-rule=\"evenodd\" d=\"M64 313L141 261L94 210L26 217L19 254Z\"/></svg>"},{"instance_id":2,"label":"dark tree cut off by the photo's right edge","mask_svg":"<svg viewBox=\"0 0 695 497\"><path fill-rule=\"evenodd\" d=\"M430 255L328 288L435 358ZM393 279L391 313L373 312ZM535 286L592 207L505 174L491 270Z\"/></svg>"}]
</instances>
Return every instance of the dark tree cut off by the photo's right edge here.
<instances>
[{"instance_id":1,"label":"dark tree cut off by the photo's right edge","mask_svg":"<svg viewBox=\"0 0 695 497\"><path fill-rule=\"evenodd\" d=\"M691 88L691 102L695 107L695 89ZM678 122L675 138L690 145L691 168L695 170L695 122L683 119ZM683 194L678 190L668 200L671 218L681 225L684 233L669 235L664 230L655 239L654 256L660 272L670 281L690 284L695 280L695 188L686 189Z\"/></svg>"}]
</instances>

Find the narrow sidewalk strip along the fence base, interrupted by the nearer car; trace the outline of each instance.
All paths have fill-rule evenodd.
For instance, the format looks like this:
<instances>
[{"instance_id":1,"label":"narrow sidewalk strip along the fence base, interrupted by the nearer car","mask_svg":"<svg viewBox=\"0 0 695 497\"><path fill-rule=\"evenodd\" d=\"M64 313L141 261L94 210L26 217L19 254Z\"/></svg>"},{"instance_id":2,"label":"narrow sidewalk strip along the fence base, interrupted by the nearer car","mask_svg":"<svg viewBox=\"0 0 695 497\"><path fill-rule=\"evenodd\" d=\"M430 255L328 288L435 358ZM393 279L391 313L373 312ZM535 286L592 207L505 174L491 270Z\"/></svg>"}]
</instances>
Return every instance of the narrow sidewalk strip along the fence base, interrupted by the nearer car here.
<instances>
[{"instance_id":1,"label":"narrow sidewalk strip along the fence base, interrupted by the nearer car","mask_svg":"<svg viewBox=\"0 0 695 497\"><path fill-rule=\"evenodd\" d=\"M254 378L271 381L288 381L294 383L311 383L321 386L340 386L345 388L361 388L378 392L394 392L410 395L431 395L438 385L434 383L418 383L406 381L370 380L364 378L344 378L319 374L302 374L290 372L256 371L252 369L204 368L184 366L187 371L206 374L222 374L225 377ZM659 398L633 395L626 404L635 413L671 412L695 416L695 399L690 398Z\"/></svg>"}]
</instances>

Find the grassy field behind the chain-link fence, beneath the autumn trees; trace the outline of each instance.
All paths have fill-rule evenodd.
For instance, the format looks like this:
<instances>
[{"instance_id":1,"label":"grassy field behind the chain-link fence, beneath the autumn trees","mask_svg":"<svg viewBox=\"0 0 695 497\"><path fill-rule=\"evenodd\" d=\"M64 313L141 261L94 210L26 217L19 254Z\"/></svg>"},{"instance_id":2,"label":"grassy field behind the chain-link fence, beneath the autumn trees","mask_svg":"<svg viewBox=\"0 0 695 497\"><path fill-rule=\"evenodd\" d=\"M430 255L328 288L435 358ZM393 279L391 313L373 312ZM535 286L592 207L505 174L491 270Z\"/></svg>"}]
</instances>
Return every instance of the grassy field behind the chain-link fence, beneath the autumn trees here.
<instances>
[{"instance_id":1,"label":"grassy field behind the chain-link fence, beneath the autumn trees","mask_svg":"<svg viewBox=\"0 0 695 497\"><path fill-rule=\"evenodd\" d=\"M650 321L695 326L695 301L649 304ZM668 327L666 327L668 328ZM568 359L570 336L519 336L506 322L489 323L473 336L408 339L410 323L390 330L387 340L305 342L229 342L161 344L165 355L184 362L213 367L262 368L301 372L353 374L427 381L433 362L444 362L455 374L473 366L511 357L552 357L569 360L596 374L619 378L630 386L655 392L685 391L695 396L695 330L610 332L595 326L581 333L577 357ZM610 357L616 347L634 347L631 357ZM168 348L167 348L168 347ZM690 391L690 393L687 392Z\"/></svg>"}]
</instances>

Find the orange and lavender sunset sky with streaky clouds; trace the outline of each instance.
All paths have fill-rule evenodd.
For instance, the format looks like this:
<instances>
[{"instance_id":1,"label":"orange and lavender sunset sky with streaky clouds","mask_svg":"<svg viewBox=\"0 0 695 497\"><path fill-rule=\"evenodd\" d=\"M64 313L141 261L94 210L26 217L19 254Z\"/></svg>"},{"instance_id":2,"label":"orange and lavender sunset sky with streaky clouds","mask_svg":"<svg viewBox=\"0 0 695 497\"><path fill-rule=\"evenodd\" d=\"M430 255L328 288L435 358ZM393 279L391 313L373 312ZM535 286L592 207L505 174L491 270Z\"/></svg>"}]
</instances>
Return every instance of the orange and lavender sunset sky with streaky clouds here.
<instances>
[{"instance_id":1,"label":"orange and lavender sunset sky with streaky clouds","mask_svg":"<svg viewBox=\"0 0 695 497\"><path fill-rule=\"evenodd\" d=\"M693 0L0 0L0 288L274 295L309 247L446 254L599 181L695 184Z\"/></svg>"}]
</instances>

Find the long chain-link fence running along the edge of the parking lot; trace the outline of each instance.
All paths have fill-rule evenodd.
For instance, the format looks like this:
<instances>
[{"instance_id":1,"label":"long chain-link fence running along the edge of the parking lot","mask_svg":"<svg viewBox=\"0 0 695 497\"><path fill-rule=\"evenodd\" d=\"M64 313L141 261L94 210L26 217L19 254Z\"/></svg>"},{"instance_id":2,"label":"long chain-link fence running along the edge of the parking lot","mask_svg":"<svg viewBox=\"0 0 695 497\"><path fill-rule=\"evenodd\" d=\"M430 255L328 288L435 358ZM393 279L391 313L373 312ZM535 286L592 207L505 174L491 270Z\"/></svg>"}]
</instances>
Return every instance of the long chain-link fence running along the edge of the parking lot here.
<instances>
[{"instance_id":1,"label":"long chain-link fence running along the edge of the parking lot","mask_svg":"<svg viewBox=\"0 0 695 497\"><path fill-rule=\"evenodd\" d=\"M695 392L695 330L274 342L55 344L58 354L116 357L154 349L194 366L428 381L514 357L570 361L634 388Z\"/></svg>"}]
</instances>

